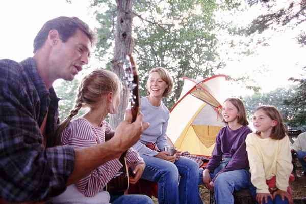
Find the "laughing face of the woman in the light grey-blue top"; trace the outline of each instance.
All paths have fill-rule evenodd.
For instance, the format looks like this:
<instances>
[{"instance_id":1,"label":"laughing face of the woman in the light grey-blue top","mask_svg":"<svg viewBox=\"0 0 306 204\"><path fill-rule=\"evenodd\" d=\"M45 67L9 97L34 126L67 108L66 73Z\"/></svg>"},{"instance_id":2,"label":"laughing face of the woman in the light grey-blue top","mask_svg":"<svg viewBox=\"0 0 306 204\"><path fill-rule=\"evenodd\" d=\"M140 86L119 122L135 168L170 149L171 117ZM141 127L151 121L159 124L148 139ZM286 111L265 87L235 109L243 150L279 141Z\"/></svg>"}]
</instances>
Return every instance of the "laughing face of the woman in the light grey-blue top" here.
<instances>
[{"instance_id":1,"label":"laughing face of the woman in the light grey-blue top","mask_svg":"<svg viewBox=\"0 0 306 204\"><path fill-rule=\"evenodd\" d=\"M167 83L161 78L158 72L150 73L149 79L147 81L147 89L150 93L150 96L162 98L167 87Z\"/></svg>"}]
</instances>

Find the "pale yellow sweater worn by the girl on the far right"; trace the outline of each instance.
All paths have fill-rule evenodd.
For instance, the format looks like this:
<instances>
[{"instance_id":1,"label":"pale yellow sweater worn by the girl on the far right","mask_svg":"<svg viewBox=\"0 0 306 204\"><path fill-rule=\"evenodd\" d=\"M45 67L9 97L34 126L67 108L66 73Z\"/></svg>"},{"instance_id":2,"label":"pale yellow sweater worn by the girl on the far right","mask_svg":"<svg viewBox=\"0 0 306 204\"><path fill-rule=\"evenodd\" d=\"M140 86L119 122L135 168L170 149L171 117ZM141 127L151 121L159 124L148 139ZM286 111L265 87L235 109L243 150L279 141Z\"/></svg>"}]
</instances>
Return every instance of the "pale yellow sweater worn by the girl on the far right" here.
<instances>
[{"instance_id":1,"label":"pale yellow sweater worn by the girl on the far right","mask_svg":"<svg viewBox=\"0 0 306 204\"><path fill-rule=\"evenodd\" d=\"M276 176L276 187L287 191L293 169L290 141L286 135L281 140L262 139L255 133L246 137L246 151L250 163L251 182L256 193L270 193L266 180Z\"/></svg>"}]
</instances>

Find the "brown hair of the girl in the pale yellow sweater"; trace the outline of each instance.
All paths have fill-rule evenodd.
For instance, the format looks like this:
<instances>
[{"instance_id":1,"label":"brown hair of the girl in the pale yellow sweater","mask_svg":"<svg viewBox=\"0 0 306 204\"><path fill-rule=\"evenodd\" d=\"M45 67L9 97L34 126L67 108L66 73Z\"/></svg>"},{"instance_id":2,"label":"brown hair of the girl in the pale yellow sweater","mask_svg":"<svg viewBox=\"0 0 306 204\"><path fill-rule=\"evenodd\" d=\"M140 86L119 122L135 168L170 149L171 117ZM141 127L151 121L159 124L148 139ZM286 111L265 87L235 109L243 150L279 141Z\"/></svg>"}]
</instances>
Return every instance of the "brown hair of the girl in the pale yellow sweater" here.
<instances>
[{"instance_id":1,"label":"brown hair of the girl in the pale yellow sweater","mask_svg":"<svg viewBox=\"0 0 306 204\"><path fill-rule=\"evenodd\" d=\"M272 128L272 132L270 135L271 139L283 139L287 134L287 128L283 123L282 115L279 113L275 106L271 105L262 105L256 108L256 111L262 110L271 120L275 120L277 122L276 126ZM260 135L260 132L256 131L256 134Z\"/></svg>"}]
</instances>

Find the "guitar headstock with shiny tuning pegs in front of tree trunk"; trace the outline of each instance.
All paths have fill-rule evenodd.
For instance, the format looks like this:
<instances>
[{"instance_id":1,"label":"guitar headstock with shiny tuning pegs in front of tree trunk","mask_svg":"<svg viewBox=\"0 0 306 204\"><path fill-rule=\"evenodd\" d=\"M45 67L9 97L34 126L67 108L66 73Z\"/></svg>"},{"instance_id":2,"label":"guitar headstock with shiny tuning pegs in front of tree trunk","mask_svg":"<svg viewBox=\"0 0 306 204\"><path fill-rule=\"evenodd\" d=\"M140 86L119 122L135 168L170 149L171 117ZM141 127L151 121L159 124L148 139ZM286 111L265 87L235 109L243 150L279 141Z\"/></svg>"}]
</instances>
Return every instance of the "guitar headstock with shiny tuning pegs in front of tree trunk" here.
<instances>
[{"instance_id":1,"label":"guitar headstock with shiny tuning pegs in front of tree trunk","mask_svg":"<svg viewBox=\"0 0 306 204\"><path fill-rule=\"evenodd\" d=\"M130 90L129 101L131 103L132 111L132 122L136 120L139 112L139 81L138 81L138 70L133 57L129 54L123 59L124 77L127 88Z\"/></svg>"}]
</instances>

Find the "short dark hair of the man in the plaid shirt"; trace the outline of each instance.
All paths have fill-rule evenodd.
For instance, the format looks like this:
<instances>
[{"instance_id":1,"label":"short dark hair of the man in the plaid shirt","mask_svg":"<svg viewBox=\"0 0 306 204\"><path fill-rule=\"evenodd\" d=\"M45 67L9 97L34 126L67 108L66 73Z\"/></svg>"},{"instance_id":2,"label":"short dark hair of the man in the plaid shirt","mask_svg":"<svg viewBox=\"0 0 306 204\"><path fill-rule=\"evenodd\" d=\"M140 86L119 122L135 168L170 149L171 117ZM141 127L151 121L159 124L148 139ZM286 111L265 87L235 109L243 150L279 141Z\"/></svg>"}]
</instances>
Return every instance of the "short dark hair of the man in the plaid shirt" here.
<instances>
[{"instance_id":1,"label":"short dark hair of the man in the plaid shirt","mask_svg":"<svg viewBox=\"0 0 306 204\"><path fill-rule=\"evenodd\" d=\"M42 26L42 28L40 29L40 31L38 32L38 34L34 39L33 53L35 53L38 49L40 49L43 46L43 44L47 40L49 31L53 29L59 32L60 38L63 42L66 42L79 29L89 38L91 45L93 44L94 35L86 23L84 23L82 20L80 20L77 17L60 16L47 21Z\"/></svg>"}]
</instances>

